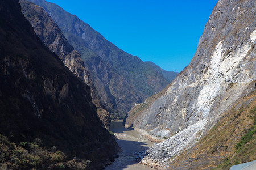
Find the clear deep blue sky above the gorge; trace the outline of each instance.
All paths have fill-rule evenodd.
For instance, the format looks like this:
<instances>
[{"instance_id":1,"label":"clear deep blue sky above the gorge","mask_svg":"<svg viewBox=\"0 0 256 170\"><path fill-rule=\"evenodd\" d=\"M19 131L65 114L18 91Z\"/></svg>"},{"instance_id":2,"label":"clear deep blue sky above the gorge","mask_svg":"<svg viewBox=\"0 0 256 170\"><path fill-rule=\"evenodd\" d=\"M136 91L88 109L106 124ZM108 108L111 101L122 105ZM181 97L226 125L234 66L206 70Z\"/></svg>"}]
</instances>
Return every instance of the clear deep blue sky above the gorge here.
<instances>
[{"instance_id":1,"label":"clear deep blue sky above the gorge","mask_svg":"<svg viewBox=\"0 0 256 170\"><path fill-rule=\"evenodd\" d=\"M46 0L75 14L107 40L142 61L181 71L217 0Z\"/></svg>"}]
</instances>

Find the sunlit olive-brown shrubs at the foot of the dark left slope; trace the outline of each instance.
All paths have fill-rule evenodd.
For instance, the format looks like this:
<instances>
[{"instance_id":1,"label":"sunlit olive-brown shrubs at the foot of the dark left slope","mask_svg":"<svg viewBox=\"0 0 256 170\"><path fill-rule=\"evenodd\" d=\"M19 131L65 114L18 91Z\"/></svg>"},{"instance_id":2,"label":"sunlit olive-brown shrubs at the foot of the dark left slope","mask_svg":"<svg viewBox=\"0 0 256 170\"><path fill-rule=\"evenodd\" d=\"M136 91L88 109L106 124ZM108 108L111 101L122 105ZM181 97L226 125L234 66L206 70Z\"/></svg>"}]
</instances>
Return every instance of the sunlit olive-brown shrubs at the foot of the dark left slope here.
<instances>
[{"instance_id":1,"label":"sunlit olive-brown shrubs at the foot of the dark left slope","mask_svg":"<svg viewBox=\"0 0 256 170\"><path fill-rule=\"evenodd\" d=\"M21 142L19 145L9 142L0 134L1 169L88 169L89 160L68 159L68 156L56 147L46 149L39 143Z\"/></svg>"}]
</instances>

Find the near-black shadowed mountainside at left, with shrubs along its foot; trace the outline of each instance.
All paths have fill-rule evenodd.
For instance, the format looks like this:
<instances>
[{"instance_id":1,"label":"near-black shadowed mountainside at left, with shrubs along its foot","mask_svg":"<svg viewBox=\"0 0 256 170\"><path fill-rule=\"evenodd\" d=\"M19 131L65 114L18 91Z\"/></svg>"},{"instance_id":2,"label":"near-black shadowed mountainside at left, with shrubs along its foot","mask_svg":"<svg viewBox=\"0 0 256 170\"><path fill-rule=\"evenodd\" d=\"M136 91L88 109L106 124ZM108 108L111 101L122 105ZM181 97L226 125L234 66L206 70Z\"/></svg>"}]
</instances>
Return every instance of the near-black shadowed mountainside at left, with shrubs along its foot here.
<instances>
[{"instance_id":1,"label":"near-black shadowed mountainside at left, with shrubs along its foot","mask_svg":"<svg viewBox=\"0 0 256 170\"><path fill-rule=\"evenodd\" d=\"M89 86L43 45L18 0L0 1L0 53L1 168L101 169L114 160L119 147Z\"/></svg>"}]
</instances>

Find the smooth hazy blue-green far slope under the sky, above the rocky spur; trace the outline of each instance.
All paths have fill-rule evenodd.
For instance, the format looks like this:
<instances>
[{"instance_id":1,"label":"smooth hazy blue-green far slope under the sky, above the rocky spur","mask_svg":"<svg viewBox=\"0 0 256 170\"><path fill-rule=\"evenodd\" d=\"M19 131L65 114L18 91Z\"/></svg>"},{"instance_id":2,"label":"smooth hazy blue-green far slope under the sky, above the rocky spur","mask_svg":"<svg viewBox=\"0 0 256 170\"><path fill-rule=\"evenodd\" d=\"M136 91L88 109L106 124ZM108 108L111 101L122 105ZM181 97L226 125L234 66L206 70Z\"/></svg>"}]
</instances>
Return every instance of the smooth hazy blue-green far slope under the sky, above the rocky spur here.
<instances>
[{"instance_id":1,"label":"smooth hazy blue-green far slope under the sky, above the rocky spur","mask_svg":"<svg viewBox=\"0 0 256 170\"><path fill-rule=\"evenodd\" d=\"M85 63L88 62L88 59L92 59L94 56L90 51L92 50L100 56L102 62L111 67L112 71L122 75L123 78L131 84L131 87L136 89L136 91L134 91L135 94L142 100L156 94L156 92L159 92L170 83L170 81L166 79L158 69L155 69L154 66L148 65L136 56L123 52L123 50L117 48L117 46L106 40L100 33L94 31L88 24L82 22L77 16L69 14L54 3L49 3L44 0L30 1L36 5L42 6L48 12L52 19L59 25L69 43L81 53ZM88 48L90 50L88 50ZM97 63L89 62L89 64ZM97 67L97 65L94 65L93 67ZM93 73L93 70L89 71L91 74ZM97 84L96 78L102 79L103 76L104 75L100 74L96 75L93 78L93 82ZM118 79L114 80L114 82L117 83ZM106 83L110 84L109 87L107 87L110 89L110 92L114 92L115 89L117 89L117 87L114 87L115 83ZM119 101L118 95L113 96L115 101ZM122 97L122 100L123 99L125 98ZM139 101L132 101L132 106L135 103L140 103ZM128 111L130 108L129 105ZM120 110L121 109L119 109L119 111Z\"/></svg>"}]
</instances>

